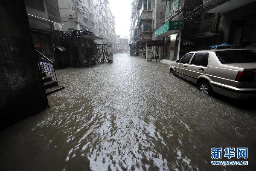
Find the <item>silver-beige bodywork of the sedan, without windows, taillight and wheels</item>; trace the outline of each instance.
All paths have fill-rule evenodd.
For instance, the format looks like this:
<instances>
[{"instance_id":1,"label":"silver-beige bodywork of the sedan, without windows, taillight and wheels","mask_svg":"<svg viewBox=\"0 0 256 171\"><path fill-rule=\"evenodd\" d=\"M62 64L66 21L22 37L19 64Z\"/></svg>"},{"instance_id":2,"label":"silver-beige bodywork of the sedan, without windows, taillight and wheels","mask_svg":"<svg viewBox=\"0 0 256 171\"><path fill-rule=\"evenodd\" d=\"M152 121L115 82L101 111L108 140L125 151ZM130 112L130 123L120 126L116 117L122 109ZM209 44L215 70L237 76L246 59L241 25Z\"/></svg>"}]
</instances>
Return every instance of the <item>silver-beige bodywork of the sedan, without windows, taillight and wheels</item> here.
<instances>
[{"instance_id":1,"label":"silver-beige bodywork of the sedan, without windows, taillight and wheels","mask_svg":"<svg viewBox=\"0 0 256 171\"><path fill-rule=\"evenodd\" d=\"M256 63L221 63L215 52L229 50L236 52L244 49L218 49L189 52L188 54L192 55L189 62L175 63L169 67L170 73L171 70L173 70L175 75L182 77L185 80L189 80L196 85L198 85L202 80L207 81L213 92L223 94L228 97L237 99L256 97ZM206 53L209 55L207 63L205 61L206 65L192 65L191 62L195 57L195 54L198 55L200 53ZM183 58L180 61L182 60ZM250 77L253 77L250 81L238 81L238 73L254 73L254 76L250 75ZM243 77L243 75L241 77Z\"/></svg>"}]
</instances>

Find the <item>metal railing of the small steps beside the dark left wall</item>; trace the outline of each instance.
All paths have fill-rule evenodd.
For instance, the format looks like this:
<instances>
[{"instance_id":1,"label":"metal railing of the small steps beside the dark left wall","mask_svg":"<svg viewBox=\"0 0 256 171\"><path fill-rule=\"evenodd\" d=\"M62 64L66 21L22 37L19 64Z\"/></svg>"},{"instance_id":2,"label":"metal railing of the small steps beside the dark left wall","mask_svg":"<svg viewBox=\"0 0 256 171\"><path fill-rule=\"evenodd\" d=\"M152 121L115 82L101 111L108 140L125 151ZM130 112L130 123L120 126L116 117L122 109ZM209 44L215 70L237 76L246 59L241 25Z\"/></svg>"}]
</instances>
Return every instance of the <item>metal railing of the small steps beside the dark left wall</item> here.
<instances>
[{"instance_id":1,"label":"metal railing of the small steps beside the dark left wall","mask_svg":"<svg viewBox=\"0 0 256 171\"><path fill-rule=\"evenodd\" d=\"M39 69L42 72L44 72L47 77L51 77L52 81L56 81L58 83L55 68L53 67L54 63L49 60L46 56L44 56L40 51L35 49L36 56L38 58L38 66Z\"/></svg>"}]
</instances>

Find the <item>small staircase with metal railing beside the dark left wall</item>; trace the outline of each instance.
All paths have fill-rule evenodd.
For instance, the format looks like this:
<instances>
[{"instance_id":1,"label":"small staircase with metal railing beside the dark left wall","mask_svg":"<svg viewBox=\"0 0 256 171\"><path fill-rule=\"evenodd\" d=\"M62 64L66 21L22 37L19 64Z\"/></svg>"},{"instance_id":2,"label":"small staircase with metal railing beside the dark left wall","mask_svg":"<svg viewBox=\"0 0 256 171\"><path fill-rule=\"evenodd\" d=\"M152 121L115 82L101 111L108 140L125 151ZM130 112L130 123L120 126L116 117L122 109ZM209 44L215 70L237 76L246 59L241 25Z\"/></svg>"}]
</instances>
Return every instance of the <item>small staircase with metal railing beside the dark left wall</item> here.
<instances>
[{"instance_id":1,"label":"small staircase with metal railing beside the dark left wall","mask_svg":"<svg viewBox=\"0 0 256 171\"><path fill-rule=\"evenodd\" d=\"M38 66L41 72L41 77L44 83L45 92L47 95L55 93L64 89L63 86L58 85L54 63L45 57L40 51L35 50L38 58Z\"/></svg>"}]
</instances>

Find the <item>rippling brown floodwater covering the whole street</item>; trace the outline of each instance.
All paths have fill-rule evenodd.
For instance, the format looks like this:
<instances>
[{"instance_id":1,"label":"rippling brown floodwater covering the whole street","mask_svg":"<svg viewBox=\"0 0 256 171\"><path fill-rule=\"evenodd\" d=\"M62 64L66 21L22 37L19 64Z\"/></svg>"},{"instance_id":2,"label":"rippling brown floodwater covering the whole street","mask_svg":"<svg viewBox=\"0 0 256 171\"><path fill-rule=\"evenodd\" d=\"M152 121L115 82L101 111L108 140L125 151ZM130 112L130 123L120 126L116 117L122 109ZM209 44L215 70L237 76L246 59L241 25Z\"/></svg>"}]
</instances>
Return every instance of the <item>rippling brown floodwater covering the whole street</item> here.
<instances>
[{"instance_id":1,"label":"rippling brown floodwater covering the whole street","mask_svg":"<svg viewBox=\"0 0 256 171\"><path fill-rule=\"evenodd\" d=\"M51 107L0 132L1 170L256 168L255 102L208 97L128 54L57 75L65 89L48 96ZM248 147L249 165L212 166L213 147Z\"/></svg>"}]
</instances>

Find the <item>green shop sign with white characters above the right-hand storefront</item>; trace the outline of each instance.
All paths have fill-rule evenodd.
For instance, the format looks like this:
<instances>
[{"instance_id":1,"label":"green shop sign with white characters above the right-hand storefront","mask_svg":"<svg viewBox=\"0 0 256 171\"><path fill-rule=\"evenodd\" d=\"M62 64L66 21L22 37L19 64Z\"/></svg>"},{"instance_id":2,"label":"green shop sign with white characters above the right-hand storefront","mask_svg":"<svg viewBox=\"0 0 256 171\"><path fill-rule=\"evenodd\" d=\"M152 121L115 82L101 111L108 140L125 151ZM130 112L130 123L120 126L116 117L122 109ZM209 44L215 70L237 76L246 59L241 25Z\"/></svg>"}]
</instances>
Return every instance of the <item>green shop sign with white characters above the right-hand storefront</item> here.
<instances>
[{"instance_id":1,"label":"green shop sign with white characters above the right-hand storefront","mask_svg":"<svg viewBox=\"0 0 256 171\"><path fill-rule=\"evenodd\" d=\"M154 37L171 30L183 30L184 21L168 21L154 31Z\"/></svg>"}]
</instances>

